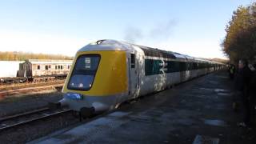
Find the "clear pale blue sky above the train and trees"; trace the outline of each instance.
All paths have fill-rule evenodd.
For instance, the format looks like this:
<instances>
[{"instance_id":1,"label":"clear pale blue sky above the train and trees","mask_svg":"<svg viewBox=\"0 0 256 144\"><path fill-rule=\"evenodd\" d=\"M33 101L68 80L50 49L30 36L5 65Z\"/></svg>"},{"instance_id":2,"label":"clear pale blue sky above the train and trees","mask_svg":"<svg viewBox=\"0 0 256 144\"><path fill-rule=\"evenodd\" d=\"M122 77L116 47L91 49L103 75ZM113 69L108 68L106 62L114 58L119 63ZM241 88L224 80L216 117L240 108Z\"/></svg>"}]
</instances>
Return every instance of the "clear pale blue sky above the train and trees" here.
<instances>
[{"instance_id":1,"label":"clear pale blue sky above the train and trees","mask_svg":"<svg viewBox=\"0 0 256 144\"><path fill-rule=\"evenodd\" d=\"M202 58L225 58L220 43L239 5L251 0L0 1L0 50L74 55L117 39Z\"/></svg>"}]
</instances>

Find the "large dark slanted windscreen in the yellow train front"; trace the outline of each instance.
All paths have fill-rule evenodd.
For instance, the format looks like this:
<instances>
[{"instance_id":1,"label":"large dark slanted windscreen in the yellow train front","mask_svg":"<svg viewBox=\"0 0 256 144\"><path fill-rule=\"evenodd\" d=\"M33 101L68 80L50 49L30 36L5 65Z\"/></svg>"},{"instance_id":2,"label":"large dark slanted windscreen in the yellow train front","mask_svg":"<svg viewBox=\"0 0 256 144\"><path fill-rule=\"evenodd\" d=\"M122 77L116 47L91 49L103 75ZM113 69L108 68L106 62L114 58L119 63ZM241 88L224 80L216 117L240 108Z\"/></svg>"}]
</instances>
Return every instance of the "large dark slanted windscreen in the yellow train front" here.
<instances>
[{"instance_id":1,"label":"large dark slanted windscreen in the yellow train front","mask_svg":"<svg viewBox=\"0 0 256 144\"><path fill-rule=\"evenodd\" d=\"M90 90L93 86L99 62L99 54L85 54L78 57L67 88L70 90Z\"/></svg>"}]
</instances>

